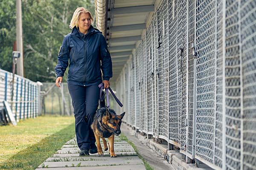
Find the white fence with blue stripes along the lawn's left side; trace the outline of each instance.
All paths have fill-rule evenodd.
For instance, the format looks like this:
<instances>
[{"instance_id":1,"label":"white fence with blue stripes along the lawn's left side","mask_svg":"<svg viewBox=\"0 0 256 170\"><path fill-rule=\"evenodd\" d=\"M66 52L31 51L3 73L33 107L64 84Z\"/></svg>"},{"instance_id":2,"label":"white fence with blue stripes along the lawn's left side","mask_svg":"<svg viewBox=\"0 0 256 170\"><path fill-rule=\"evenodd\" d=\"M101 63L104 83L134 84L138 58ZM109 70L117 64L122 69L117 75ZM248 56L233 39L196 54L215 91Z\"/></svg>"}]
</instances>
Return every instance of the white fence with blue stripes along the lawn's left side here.
<instances>
[{"instance_id":1,"label":"white fence with blue stripes along the lawn's left side","mask_svg":"<svg viewBox=\"0 0 256 170\"><path fill-rule=\"evenodd\" d=\"M38 116L39 94L38 83L0 69L0 109L7 101L17 121Z\"/></svg>"}]
</instances>

